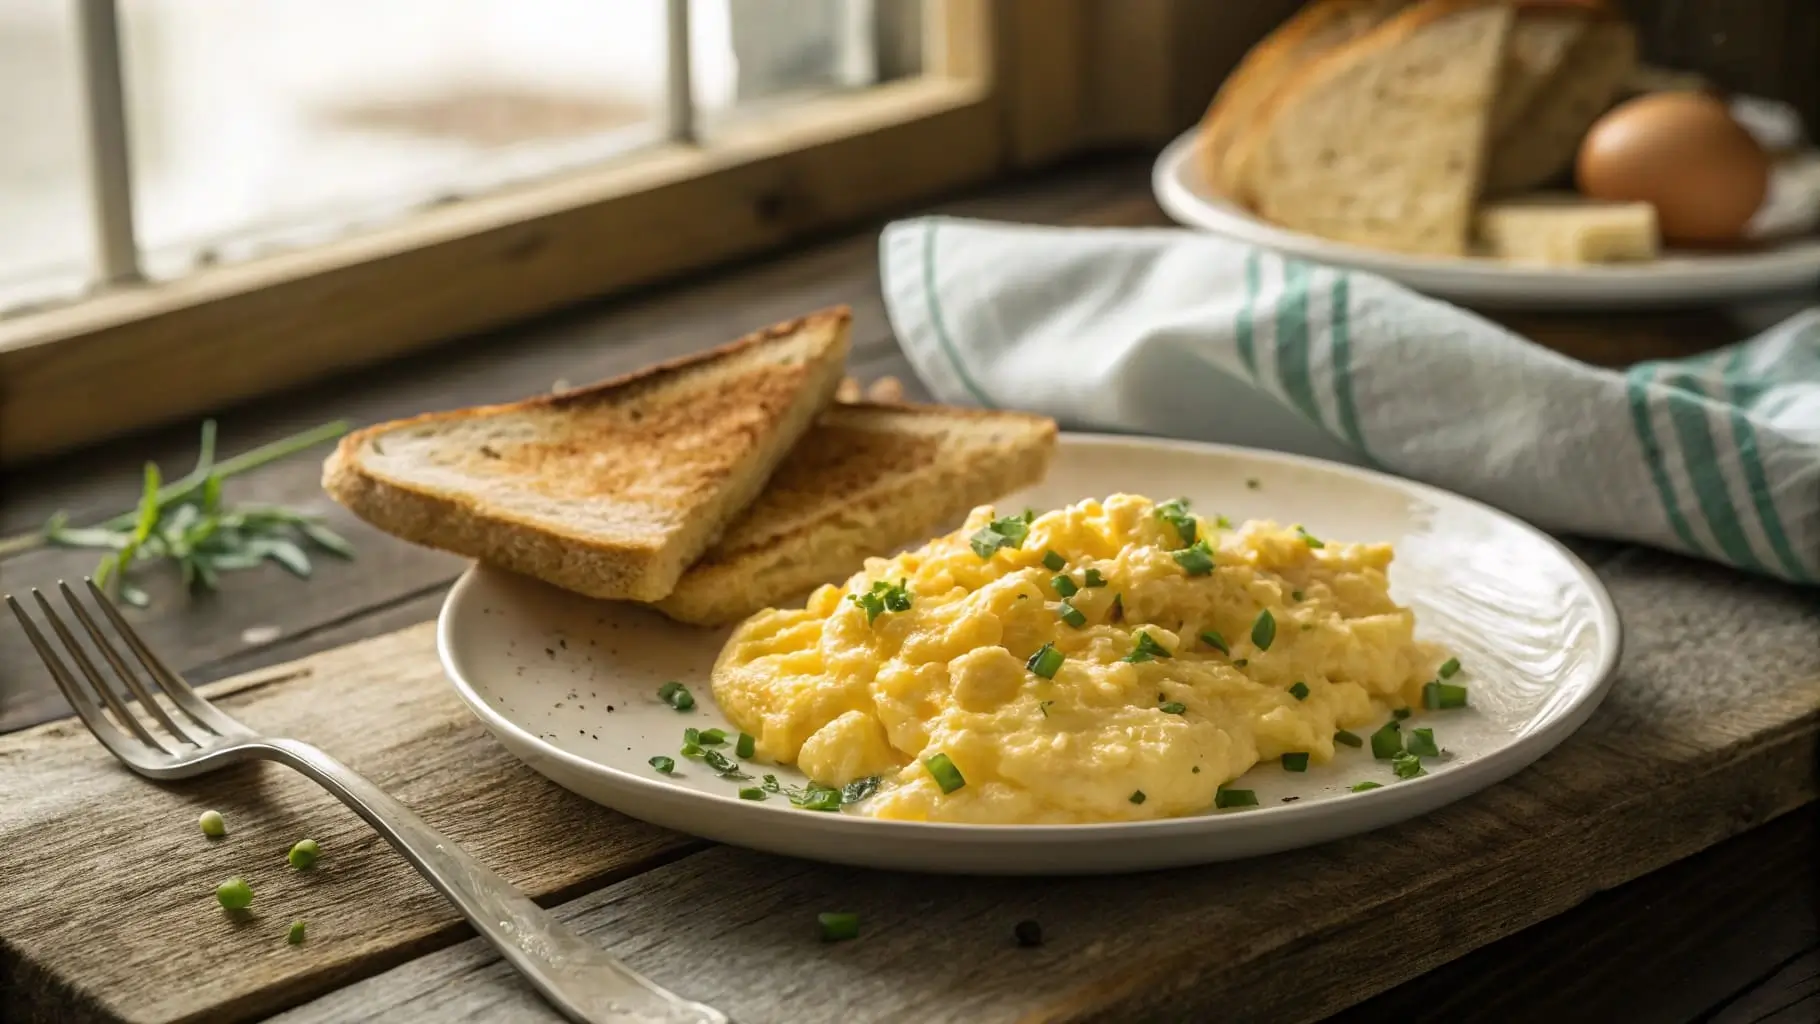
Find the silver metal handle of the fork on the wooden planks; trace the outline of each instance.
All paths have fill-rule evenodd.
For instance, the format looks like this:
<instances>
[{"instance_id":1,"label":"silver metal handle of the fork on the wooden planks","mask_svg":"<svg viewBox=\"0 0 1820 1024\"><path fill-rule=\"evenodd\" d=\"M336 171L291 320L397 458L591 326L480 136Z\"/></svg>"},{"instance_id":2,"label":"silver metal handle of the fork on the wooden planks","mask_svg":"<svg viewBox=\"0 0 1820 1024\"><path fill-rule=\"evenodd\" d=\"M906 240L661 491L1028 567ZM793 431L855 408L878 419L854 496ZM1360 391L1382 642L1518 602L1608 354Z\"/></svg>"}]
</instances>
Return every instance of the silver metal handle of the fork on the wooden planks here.
<instances>
[{"instance_id":1,"label":"silver metal handle of the fork on the wooden planks","mask_svg":"<svg viewBox=\"0 0 1820 1024\"><path fill-rule=\"evenodd\" d=\"M712 1006L664 991L531 902L410 808L346 764L297 740L260 744L366 818L499 948L537 991L579 1024L728 1024Z\"/></svg>"}]
</instances>

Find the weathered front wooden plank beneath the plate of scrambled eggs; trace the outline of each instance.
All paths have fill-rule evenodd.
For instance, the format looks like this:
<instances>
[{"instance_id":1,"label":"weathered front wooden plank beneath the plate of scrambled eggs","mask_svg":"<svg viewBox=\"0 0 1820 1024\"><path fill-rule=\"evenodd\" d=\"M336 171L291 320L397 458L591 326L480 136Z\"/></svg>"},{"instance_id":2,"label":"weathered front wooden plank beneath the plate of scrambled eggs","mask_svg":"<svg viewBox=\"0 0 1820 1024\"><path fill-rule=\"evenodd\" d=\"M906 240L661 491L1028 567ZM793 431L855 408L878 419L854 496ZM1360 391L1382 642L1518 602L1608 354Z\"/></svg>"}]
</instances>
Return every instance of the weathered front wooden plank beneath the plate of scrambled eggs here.
<instances>
[{"instance_id":1,"label":"weathered front wooden plank beneath the plate of scrambled eggs","mask_svg":"<svg viewBox=\"0 0 1820 1024\"><path fill-rule=\"evenodd\" d=\"M1602 711L1529 771L1396 829L1077 880L932 882L715 848L562 911L743 1024L1316 1019L1816 797L1811 595L1662 555L1603 575L1629 648ZM859 911L863 937L815 942L823 909ZM1043 924L1043 949L1012 944L1021 919ZM349 1013L553 1019L479 942L284 1020Z\"/></svg>"}]
</instances>

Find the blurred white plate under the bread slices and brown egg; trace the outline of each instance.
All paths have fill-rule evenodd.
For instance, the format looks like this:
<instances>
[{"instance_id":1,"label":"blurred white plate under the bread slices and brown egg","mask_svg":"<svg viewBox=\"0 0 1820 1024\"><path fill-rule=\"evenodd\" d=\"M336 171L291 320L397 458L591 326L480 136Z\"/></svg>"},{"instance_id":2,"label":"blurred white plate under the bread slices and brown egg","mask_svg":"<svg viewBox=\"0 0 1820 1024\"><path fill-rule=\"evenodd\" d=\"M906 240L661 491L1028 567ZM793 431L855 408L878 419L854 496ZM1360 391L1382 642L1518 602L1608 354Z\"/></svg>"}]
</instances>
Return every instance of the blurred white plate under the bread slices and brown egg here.
<instances>
[{"instance_id":1,"label":"blurred white plate under the bread slices and brown egg","mask_svg":"<svg viewBox=\"0 0 1820 1024\"><path fill-rule=\"evenodd\" d=\"M1756 253L1669 253L1651 264L1594 267L1410 256L1329 242L1270 224L1214 195L1196 169L1196 131L1168 144L1150 173L1158 204L1178 222L1289 256L1372 271L1438 298L1498 307L1589 309L1711 304L1820 286L1820 238L1811 236ZM1774 195L1771 202L1776 202Z\"/></svg>"}]
</instances>

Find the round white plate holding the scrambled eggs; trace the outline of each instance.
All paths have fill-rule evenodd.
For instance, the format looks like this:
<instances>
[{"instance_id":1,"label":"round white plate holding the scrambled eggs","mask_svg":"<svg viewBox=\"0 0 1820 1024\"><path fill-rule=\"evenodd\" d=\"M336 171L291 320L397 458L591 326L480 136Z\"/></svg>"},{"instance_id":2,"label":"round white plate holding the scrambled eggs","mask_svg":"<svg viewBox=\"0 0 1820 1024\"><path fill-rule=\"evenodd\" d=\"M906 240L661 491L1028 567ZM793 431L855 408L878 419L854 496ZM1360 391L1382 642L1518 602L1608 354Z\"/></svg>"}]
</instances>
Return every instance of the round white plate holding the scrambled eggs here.
<instances>
[{"instance_id":1,"label":"round white plate holding the scrambled eggs","mask_svg":"<svg viewBox=\"0 0 1820 1024\"><path fill-rule=\"evenodd\" d=\"M1247 482L1256 480L1256 489ZM684 760L684 726L728 728L708 669L726 631L581 598L473 567L442 606L437 648L457 693L513 755L582 797L679 831L817 860L1005 875L1097 873L1252 857L1432 811L1520 771L1567 738L1618 664L1618 615L1598 578L1543 533L1485 506L1314 458L1210 444L1063 435L1048 478L1003 507L1059 507L1117 491L1187 495L1207 515L1276 518L1312 533L1396 544L1392 593L1418 635L1452 648L1472 708L1418 715L1452 751L1398 782L1369 751L1290 775L1245 775L1256 809L1092 826L961 826L803 811L737 798L735 782ZM657 688L681 680L697 708ZM646 762L668 755L679 775ZM801 784L775 766L753 766ZM1381 789L1352 793L1358 780ZM1294 798L1292 802L1283 802Z\"/></svg>"}]
</instances>

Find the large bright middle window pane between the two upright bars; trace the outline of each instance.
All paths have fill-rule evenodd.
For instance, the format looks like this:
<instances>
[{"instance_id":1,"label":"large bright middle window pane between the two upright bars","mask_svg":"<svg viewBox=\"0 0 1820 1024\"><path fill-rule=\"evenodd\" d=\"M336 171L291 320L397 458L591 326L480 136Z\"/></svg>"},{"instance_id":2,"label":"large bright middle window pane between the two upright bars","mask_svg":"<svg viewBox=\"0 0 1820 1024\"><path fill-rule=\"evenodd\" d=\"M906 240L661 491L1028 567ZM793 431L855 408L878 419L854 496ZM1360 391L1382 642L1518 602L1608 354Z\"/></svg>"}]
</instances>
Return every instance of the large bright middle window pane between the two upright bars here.
<instances>
[{"instance_id":1,"label":"large bright middle window pane between the two upright bars","mask_svg":"<svg viewBox=\"0 0 1820 1024\"><path fill-rule=\"evenodd\" d=\"M153 276L606 160L662 124L657 0L129 0L122 16Z\"/></svg>"}]
</instances>

